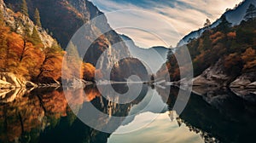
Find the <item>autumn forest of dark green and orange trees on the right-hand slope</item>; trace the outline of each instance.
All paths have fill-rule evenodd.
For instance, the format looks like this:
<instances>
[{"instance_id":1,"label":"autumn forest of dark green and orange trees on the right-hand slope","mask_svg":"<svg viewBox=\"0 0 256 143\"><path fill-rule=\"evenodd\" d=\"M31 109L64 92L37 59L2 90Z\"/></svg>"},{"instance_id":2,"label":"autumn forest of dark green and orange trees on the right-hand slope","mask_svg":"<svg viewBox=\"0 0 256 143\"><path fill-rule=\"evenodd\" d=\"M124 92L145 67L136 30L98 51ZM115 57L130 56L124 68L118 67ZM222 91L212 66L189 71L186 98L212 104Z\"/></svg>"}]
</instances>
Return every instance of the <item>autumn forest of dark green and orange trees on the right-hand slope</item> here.
<instances>
[{"instance_id":1,"label":"autumn forest of dark green and orange trees on the right-hand slope","mask_svg":"<svg viewBox=\"0 0 256 143\"><path fill-rule=\"evenodd\" d=\"M224 72L234 77L256 68L256 8L253 4L247 9L247 14L239 26L232 26L225 16L220 18L220 24L215 28L207 20L206 30L201 37L189 39L186 45L191 55L194 76L199 76L209 66L221 60ZM183 50L177 48L177 52ZM180 79L180 69L172 50L169 50L166 66L173 81Z\"/></svg>"}]
</instances>

